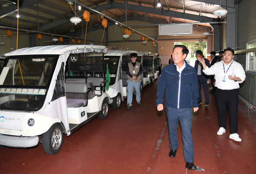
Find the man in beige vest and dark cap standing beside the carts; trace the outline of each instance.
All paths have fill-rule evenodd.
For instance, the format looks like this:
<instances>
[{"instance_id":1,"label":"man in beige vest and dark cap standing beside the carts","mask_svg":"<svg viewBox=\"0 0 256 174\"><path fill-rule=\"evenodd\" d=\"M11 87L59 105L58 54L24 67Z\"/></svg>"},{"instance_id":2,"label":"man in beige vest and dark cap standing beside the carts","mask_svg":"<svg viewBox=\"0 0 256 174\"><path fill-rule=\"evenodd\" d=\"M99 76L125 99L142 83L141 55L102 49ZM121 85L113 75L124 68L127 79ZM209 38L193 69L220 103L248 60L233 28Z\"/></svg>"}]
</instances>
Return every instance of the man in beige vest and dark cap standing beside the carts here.
<instances>
[{"instance_id":1,"label":"man in beige vest and dark cap standing beside the carts","mask_svg":"<svg viewBox=\"0 0 256 174\"><path fill-rule=\"evenodd\" d=\"M132 62L128 62L126 64L126 74L127 74L127 84L128 84L128 96L127 96L127 106L126 109L132 108L132 92L133 88L136 91L136 100L138 106L141 106L140 104L140 74L142 73L142 66L140 66L139 62L136 62L137 59L137 53L130 54Z\"/></svg>"}]
</instances>

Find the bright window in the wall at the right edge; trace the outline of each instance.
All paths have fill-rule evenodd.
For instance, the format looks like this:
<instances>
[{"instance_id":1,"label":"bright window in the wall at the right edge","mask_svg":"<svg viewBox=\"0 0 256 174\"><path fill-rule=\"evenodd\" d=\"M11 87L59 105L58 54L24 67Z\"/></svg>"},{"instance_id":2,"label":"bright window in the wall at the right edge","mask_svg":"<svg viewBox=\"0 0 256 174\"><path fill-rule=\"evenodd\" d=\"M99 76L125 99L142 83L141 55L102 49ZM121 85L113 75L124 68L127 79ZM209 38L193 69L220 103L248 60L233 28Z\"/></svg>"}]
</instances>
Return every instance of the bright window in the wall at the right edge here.
<instances>
[{"instance_id":1,"label":"bright window in the wall at the right edge","mask_svg":"<svg viewBox=\"0 0 256 174\"><path fill-rule=\"evenodd\" d=\"M246 49L256 48L256 41L246 44ZM248 52L246 55L246 71L256 72L255 52Z\"/></svg>"}]
</instances>

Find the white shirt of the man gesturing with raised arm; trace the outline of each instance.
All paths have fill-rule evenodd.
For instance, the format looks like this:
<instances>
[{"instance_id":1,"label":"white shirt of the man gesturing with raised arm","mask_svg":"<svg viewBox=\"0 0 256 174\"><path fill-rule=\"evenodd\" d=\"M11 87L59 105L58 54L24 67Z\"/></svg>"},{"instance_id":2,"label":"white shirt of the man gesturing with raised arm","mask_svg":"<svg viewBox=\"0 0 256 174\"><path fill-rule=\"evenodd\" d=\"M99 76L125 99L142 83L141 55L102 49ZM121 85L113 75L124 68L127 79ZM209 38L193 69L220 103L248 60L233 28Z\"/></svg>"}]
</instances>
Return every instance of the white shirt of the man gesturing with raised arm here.
<instances>
[{"instance_id":1,"label":"white shirt of the man gesturing with raised arm","mask_svg":"<svg viewBox=\"0 0 256 174\"><path fill-rule=\"evenodd\" d=\"M224 64L225 72L228 70L228 72L226 72L226 75L224 73L223 64ZM228 69L228 67L230 67L230 68ZM237 78L239 77L242 81L235 82L234 80L230 80L228 78L228 75L231 75L233 73L233 71L234 71L234 73L236 73L235 76ZM206 69L203 70L203 72L206 75L214 75L215 74L215 79L216 79L215 86L222 90L238 89L239 83L242 83L245 80L244 68L242 67L242 65L240 63L235 62L234 60L232 60L228 65L226 65L224 63L224 61L216 62L210 68L208 68L206 66ZM223 82L224 76L226 76L225 82Z\"/></svg>"}]
</instances>

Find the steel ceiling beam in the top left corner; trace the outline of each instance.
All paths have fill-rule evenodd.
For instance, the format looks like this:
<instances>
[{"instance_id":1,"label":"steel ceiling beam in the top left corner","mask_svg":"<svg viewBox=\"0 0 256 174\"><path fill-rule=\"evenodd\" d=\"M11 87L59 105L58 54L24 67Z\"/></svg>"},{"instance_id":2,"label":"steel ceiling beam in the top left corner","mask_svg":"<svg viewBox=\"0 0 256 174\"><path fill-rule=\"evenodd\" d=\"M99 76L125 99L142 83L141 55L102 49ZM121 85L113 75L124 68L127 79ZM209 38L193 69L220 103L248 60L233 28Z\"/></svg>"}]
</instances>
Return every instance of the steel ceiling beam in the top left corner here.
<instances>
[{"instance_id":1,"label":"steel ceiling beam in the top left corner","mask_svg":"<svg viewBox=\"0 0 256 174\"><path fill-rule=\"evenodd\" d=\"M28 6L32 6L32 5L36 4L37 2L42 2L42 1L43 0L23 0L22 3L19 4L19 10L22 10L24 8L27 8ZM18 4L9 5L0 10L0 18L3 18L4 16L8 16L17 11L18 11Z\"/></svg>"}]
</instances>

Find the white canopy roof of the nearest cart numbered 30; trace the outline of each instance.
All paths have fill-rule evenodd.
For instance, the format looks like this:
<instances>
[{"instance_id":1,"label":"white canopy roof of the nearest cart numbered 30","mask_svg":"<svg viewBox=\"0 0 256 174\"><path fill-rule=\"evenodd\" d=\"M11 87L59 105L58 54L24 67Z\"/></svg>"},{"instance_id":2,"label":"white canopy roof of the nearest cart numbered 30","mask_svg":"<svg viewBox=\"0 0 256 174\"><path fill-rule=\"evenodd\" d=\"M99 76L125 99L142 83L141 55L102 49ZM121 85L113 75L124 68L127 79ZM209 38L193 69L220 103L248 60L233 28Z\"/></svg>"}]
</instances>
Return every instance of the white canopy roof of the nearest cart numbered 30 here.
<instances>
[{"instance_id":1,"label":"white canopy roof of the nearest cart numbered 30","mask_svg":"<svg viewBox=\"0 0 256 174\"><path fill-rule=\"evenodd\" d=\"M76 51L82 53L82 50L86 48L85 52L106 52L105 46L100 45L54 45L54 46L37 46L29 48L20 48L12 52L4 54L4 56L18 56L18 55L44 55L44 54L57 54L61 55L67 51ZM92 50L93 49L93 50Z\"/></svg>"}]
</instances>

